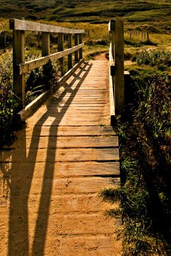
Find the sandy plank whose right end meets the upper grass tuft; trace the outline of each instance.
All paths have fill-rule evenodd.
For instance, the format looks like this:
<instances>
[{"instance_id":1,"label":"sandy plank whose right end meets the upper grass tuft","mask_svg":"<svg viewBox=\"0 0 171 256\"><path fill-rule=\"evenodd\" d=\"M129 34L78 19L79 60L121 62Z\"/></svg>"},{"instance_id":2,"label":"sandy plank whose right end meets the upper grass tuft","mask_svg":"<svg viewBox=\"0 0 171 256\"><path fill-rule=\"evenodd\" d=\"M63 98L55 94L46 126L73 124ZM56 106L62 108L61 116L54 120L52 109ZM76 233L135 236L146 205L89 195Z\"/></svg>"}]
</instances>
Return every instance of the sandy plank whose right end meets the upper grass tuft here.
<instances>
[{"instance_id":1,"label":"sandy plank whose right end meets the upper grass tuft","mask_svg":"<svg viewBox=\"0 0 171 256\"><path fill-rule=\"evenodd\" d=\"M52 191L50 189L51 195L71 195L72 194L92 194L99 193L100 190L105 188L118 188L121 184L120 178L107 178L107 177L73 177L73 178L63 178L59 179L44 179L43 184L40 179L31 180L31 178L25 178L31 186L34 187L32 195L38 195L41 191L41 196L47 195L47 191L41 190L42 186L50 188L52 186ZM18 184L19 189L17 190L20 193L20 186L23 186L24 179L20 177L15 178L15 184ZM20 185L20 186L19 186ZM15 195L13 195L15 196ZM24 193L23 195L24 196ZM94 221L94 220L93 220Z\"/></svg>"}]
</instances>

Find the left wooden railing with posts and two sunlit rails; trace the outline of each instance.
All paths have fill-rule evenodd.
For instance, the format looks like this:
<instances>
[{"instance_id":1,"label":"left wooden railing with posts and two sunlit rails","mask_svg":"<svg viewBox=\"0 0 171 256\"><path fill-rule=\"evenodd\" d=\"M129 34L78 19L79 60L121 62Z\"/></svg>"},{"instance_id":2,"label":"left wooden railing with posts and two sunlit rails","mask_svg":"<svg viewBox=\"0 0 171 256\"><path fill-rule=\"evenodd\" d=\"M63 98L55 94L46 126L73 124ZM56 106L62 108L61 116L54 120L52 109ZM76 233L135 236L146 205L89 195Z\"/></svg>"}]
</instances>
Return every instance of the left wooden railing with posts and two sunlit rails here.
<instances>
[{"instance_id":1,"label":"left wooden railing with posts and two sunlit rails","mask_svg":"<svg viewBox=\"0 0 171 256\"><path fill-rule=\"evenodd\" d=\"M26 20L10 19L10 29L13 29L13 92L25 106L25 73L47 65L48 61L59 59L61 73L64 73L64 56L68 56L68 70L73 67L72 54L75 52L75 62L82 61L82 34L84 29L68 29L50 26ZM41 32L41 54L36 60L25 61L25 31ZM58 33L58 52L50 54L50 33ZM68 49L64 50L64 34L68 34ZM75 46L73 47L73 34Z\"/></svg>"}]
</instances>

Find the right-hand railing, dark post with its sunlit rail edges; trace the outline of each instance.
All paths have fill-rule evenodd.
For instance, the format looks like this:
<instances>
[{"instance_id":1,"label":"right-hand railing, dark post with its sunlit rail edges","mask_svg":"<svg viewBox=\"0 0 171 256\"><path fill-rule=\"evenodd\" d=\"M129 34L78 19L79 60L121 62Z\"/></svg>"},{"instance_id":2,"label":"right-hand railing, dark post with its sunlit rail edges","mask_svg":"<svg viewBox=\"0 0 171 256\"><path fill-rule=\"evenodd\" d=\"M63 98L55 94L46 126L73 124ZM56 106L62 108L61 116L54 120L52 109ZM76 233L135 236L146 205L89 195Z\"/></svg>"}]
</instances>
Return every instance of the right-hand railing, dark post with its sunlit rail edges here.
<instances>
[{"instance_id":1,"label":"right-hand railing, dark post with its sunlit rail edges","mask_svg":"<svg viewBox=\"0 0 171 256\"><path fill-rule=\"evenodd\" d=\"M124 113L124 25L123 20L110 20L108 31L112 42L109 49L110 63L110 116Z\"/></svg>"}]
</instances>

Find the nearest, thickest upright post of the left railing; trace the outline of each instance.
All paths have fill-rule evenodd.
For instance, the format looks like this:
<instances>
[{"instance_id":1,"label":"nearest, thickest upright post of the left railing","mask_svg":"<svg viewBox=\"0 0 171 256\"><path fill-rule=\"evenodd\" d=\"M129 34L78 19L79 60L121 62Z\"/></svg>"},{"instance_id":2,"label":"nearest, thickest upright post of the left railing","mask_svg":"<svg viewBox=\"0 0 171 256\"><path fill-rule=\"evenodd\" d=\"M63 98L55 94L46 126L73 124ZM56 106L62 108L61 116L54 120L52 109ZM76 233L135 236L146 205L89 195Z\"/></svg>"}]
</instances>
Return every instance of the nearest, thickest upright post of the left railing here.
<instances>
[{"instance_id":1,"label":"nearest, thickest upright post of the left railing","mask_svg":"<svg viewBox=\"0 0 171 256\"><path fill-rule=\"evenodd\" d=\"M25 31L13 30L13 93L17 102L25 107L25 75L17 75L17 65L25 62ZM20 107L19 107L20 108Z\"/></svg>"}]
</instances>

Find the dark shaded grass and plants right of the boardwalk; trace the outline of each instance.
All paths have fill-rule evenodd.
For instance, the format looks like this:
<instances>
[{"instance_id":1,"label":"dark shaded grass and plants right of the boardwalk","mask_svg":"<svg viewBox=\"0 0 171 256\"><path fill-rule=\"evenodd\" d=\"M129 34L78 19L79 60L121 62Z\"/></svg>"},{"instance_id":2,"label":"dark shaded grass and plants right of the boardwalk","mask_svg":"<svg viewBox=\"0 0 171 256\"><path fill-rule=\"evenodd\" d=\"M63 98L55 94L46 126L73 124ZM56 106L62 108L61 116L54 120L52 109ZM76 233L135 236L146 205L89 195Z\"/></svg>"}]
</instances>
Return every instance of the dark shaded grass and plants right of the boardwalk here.
<instances>
[{"instance_id":1,"label":"dark shaded grass and plants right of the boardwalk","mask_svg":"<svg viewBox=\"0 0 171 256\"><path fill-rule=\"evenodd\" d=\"M150 55L149 61L145 61L144 54ZM121 200L120 211L112 209L107 214L123 215L125 256L170 255L171 252L171 81L168 72L161 72L160 68L161 63L168 64L170 59L168 51L142 52L137 64L140 67L143 64L144 68L130 68L134 97L127 102L129 110L124 122L118 120L123 186L105 189L100 194L109 202ZM155 69L149 68L154 63Z\"/></svg>"}]
</instances>

